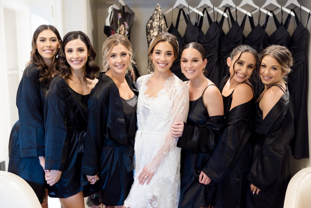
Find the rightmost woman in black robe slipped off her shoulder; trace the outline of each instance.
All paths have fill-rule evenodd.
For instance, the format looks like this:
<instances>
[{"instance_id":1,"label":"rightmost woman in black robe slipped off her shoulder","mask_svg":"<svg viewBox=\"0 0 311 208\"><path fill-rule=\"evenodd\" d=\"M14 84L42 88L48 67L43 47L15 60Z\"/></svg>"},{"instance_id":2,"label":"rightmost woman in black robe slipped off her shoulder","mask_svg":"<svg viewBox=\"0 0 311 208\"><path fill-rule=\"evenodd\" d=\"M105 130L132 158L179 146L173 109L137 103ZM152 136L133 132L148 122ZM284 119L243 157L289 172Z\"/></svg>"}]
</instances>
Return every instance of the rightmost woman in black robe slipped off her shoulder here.
<instances>
[{"instance_id":1,"label":"rightmost woman in black robe slipped off her shoulder","mask_svg":"<svg viewBox=\"0 0 311 208\"><path fill-rule=\"evenodd\" d=\"M260 78L265 85L256 103L253 165L247 175L247 207L281 208L291 178L290 139L294 105L284 81L293 58L284 46L262 51ZM249 188L249 186L248 186Z\"/></svg>"}]
</instances>

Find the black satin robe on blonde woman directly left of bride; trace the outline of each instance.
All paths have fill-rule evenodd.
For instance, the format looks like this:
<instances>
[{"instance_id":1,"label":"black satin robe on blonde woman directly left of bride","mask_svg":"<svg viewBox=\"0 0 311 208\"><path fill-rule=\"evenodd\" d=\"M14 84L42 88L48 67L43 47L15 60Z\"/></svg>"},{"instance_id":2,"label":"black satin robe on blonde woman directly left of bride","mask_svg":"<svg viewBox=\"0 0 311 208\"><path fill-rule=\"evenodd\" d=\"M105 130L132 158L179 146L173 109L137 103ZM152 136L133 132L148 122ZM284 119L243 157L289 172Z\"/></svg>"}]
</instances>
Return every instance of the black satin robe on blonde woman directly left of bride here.
<instances>
[{"instance_id":1,"label":"black satin robe on blonde woman directly left of bride","mask_svg":"<svg viewBox=\"0 0 311 208\"><path fill-rule=\"evenodd\" d=\"M132 79L126 75L126 80L138 96ZM98 173L100 179L96 184L104 205L123 205L134 181L132 159L137 126L127 133L119 90L103 72L92 90L88 109L82 173Z\"/></svg>"}]
</instances>

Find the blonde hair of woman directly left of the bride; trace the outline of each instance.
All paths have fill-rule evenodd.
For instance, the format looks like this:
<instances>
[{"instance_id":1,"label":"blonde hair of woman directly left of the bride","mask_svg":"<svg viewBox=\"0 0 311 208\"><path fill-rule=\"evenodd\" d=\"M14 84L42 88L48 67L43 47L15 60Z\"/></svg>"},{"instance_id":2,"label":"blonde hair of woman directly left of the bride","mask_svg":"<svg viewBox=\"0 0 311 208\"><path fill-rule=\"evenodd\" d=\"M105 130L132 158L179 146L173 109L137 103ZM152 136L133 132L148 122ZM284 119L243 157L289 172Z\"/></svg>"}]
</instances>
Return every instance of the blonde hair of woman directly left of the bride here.
<instances>
[{"instance_id":1,"label":"blonde hair of woman directly left of the bride","mask_svg":"<svg viewBox=\"0 0 311 208\"><path fill-rule=\"evenodd\" d=\"M103 44L103 48L101 51L101 54L103 56L103 61L102 61L103 71L109 70L109 60L108 60L109 52L114 46L118 44L122 44L123 46L125 46L126 50L128 51L128 55L130 56L129 68L132 71L131 63L135 64L133 60L132 44L130 43L127 37L121 34L114 34L112 36L109 36Z\"/></svg>"}]
</instances>

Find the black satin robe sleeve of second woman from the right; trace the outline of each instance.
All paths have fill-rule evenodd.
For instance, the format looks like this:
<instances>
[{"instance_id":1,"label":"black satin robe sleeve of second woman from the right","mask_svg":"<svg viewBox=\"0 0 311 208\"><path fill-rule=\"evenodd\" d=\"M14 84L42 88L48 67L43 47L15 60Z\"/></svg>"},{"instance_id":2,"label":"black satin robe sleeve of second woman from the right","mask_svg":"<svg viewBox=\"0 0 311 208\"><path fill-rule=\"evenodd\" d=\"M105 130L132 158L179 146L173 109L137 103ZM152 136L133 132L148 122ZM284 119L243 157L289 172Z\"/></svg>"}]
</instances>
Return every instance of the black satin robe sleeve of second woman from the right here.
<instances>
[{"instance_id":1,"label":"black satin robe sleeve of second woman from the right","mask_svg":"<svg viewBox=\"0 0 311 208\"><path fill-rule=\"evenodd\" d=\"M226 117L226 125L203 172L218 183L225 178L244 149L251 133L254 100L234 107Z\"/></svg>"}]
</instances>

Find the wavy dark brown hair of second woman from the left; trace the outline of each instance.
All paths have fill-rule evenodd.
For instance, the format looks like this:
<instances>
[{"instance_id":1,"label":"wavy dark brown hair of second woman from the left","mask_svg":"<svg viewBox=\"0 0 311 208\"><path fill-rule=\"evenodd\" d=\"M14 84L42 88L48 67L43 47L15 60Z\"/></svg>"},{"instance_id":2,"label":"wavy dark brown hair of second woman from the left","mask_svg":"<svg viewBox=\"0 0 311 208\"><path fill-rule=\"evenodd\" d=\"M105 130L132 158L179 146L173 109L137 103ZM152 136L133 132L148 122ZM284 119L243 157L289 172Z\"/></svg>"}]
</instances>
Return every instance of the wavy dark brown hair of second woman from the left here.
<instances>
[{"instance_id":1,"label":"wavy dark brown hair of second woman from the left","mask_svg":"<svg viewBox=\"0 0 311 208\"><path fill-rule=\"evenodd\" d=\"M59 75L62 75L65 79L69 79L69 75L71 75L71 68L66 60L65 55L65 46L69 41L73 41L79 39L85 43L87 47L87 51L90 53L90 56L87 57L86 61L86 78L94 80L95 75L99 72L100 68L95 62L96 52L93 48L90 39L88 36L81 31L72 31L68 32L63 39L63 44L58 51L58 60L57 63L54 65L55 72Z\"/></svg>"}]
</instances>

